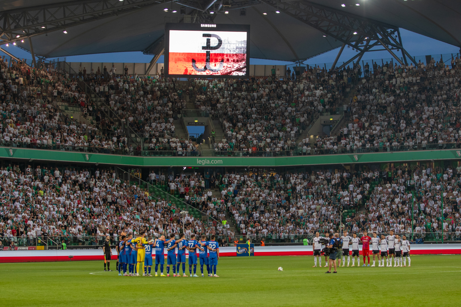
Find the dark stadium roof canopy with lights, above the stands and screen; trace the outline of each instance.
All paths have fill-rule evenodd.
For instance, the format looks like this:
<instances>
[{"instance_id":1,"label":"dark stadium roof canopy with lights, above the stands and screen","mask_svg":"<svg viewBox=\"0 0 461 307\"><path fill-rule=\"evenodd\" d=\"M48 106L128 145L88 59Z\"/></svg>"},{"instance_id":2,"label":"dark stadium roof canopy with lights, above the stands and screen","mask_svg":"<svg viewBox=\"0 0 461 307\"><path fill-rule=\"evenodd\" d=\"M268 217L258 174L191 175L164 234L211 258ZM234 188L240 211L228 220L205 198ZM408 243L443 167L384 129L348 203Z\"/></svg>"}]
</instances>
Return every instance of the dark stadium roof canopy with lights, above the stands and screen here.
<instances>
[{"instance_id":1,"label":"dark stadium roof canopy with lights, above the stands and screen","mask_svg":"<svg viewBox=\"0 0 461 307\"><path fill-rule=\"evenodd\" d=\"M8 17L12 26L9 32L3 29L0 36L3 42L0 41L0 44L13 41L18 34L24 38L31 36L35 55L45 58L129 51L155 54L160 50L156 44L163 44L165 17L182 18L179 8L186 6L187 14L197 16L199 20L206 21L208 18L213 23L250 24L251 58L305 60L343 45L338 34L333 33L333 28L325 30L319 23L316 23L318 26L312 26L309 14L301 17L302 13L308 11L306 7L312 6L316 10L315 14L335 14L340 23L344 22L343 17L346 16L349 22L352 18L357 24L365 21L386 28L408 29L461 46L461 32L455 30L461 28L459 0L239 0L238 3L231 0L228 14L221 12L211 15L210 10L223 11L221 4L225 1L215 1L3 0L0 2L0 24L7 24L4 21ZM210 3L212 6L205 9ZM62 15L63 7L69 7L69 12L72 8L77 12L82 4L93 7L95 12L99 10L99 15L86 13L82 17L85 9L80 17L72 17L69 13ZM121 9L121 5L127 9ZM198 10L194 9L197 6ZM236 6L246 7L246 16L239 16L240 10ZM178 12L165 12L165 8L173 8ZM276 13L276 10L280 13ZM41 19L42 12L49 15L44 20ZM312 11L309 12L312 15ZM22 19L28 24L22 24ZM34 29L34 24L40 25L41 29L38 26ZM405 42L402 44L404 46ZM18 43L18 46L30 51L27 41Z\"/></svg>"}]
</instances>

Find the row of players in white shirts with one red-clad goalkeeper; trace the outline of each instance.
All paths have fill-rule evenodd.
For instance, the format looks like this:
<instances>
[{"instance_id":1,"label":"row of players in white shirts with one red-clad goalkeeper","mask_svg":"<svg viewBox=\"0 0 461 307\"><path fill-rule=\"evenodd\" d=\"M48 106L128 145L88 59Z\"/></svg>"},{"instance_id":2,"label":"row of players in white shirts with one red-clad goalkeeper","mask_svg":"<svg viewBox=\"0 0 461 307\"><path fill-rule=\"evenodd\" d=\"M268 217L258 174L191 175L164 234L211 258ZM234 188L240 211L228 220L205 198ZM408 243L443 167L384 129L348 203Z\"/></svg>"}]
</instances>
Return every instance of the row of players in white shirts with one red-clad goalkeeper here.
<instances>
[{"instance_id":1,"label":"row of players in white shirts with one red-clad goalkeeper","mask_svg":"<svg viewBox=\"0 0 461 307\"><path fill-rule=\"evenodd\" d=\"M346 263L347 256L347 266L350 264L350 251L349 245L352 245L352 266L355 266L355 258L357 258L357 266L360 266L360 255L359 255L359 243L362 242L362 256L363 256L363 265L366 266L366 258L368 260L368 265L370 266L370 243L371 243L371 252L373 255L373 264L375 266L376 258L378 258L378 266L384 266L384 259L386 260L386 266L392 266L392 258L394 259L394 266L411 266L410 260L410 242L407 240L407 237L403 235L394 235L394 232L391 230L388 236L382 235L381 238L377 237L376 232L373 232L373 237L369 237L367 232L363 233L362 237L357 237L357 234L354 233L352 237L348 235L347 232L343 232L343 236L339 238L339 235L336 233L335 237L342 249L338 249L338 254L343 255L343 265ZM320 237L319 232L316 233L316 236L313 238L313 254L314 254L314 265L317 266L317 259L319 259L319 266L322 266L321 258L321 249L322 244L320 243L321 239L327 239L326 237ZM341 257L337 257L338 266L341 265ZM403 264L403 265L402 265ZM325 266L327 264L327 256L325 255Z\"/></svg>"}]
</instances>

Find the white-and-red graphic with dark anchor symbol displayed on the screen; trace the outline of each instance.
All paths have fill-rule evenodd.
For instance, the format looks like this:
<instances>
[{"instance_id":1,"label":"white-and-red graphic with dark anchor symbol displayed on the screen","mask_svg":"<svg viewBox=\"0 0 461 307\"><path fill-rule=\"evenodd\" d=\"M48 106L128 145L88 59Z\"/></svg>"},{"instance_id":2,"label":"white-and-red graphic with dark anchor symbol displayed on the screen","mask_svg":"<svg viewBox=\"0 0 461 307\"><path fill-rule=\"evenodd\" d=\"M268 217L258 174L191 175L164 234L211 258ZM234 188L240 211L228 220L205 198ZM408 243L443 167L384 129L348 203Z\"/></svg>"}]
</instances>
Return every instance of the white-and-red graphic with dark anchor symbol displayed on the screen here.
<instances>
[{"instance_id":1,"label":"white-and-red graphic with dark anchor symbol displayed on the screen","mask_svg":"<svg viewBox=\"0 0 461 307\"><path fill-rule=\"evenodd\" d=\"M245 75L247 32L170 30L170 75Z\"/></svg>"}]
</instances>

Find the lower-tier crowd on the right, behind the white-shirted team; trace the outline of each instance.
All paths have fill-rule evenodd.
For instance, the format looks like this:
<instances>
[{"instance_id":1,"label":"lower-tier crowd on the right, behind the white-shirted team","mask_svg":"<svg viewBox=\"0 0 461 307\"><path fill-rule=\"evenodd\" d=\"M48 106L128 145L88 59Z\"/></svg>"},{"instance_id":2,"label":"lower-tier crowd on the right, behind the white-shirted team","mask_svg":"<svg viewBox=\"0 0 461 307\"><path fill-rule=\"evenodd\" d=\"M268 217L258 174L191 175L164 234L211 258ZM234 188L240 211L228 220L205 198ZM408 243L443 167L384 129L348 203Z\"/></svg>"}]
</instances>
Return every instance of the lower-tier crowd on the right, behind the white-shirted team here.
<instances>
[{"instance_id":1,"label":"lower-tier crowd on the right, behind the white-shirted team","mask_svg":"<svg viewBox=\"0 0 461 307\"><path fill-rule=\"evenodd\" d=\"M460 174L461 167L226 174L221 201L254 241L298 242L342 230L441 240L442 229L445 240L459 241Z\"/></svg>"}]
</instances>

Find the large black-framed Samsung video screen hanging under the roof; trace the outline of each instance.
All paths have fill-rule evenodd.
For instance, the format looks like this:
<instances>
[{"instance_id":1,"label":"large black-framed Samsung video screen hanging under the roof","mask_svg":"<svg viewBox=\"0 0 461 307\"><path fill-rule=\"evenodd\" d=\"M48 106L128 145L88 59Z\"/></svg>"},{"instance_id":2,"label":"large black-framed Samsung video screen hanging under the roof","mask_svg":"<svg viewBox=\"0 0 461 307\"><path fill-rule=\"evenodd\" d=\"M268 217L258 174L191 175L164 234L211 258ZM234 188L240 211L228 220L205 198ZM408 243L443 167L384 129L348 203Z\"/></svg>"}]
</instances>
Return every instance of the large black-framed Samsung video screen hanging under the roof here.
<instances>
[{"instance_id":1,"label":"large black-framed Samsung video screen hanging under the roof","mask_svg":"<svg viewBox=\"0 0 461 307\"><path fill-rule=\"evenodd\" d=\"M250 26L167 23L165 75L247 78Z\"/></svg>"}]
</instances>

